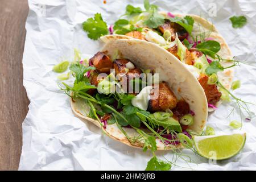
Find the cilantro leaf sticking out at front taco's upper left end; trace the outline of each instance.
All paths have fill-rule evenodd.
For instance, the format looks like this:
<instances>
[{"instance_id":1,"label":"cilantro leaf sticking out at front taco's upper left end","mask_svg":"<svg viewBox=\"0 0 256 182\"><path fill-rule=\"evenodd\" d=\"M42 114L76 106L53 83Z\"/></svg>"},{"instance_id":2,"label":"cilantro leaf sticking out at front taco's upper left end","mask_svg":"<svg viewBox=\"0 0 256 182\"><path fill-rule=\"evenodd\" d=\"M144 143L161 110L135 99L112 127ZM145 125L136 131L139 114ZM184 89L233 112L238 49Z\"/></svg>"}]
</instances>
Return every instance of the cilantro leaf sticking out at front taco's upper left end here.
<instances>
[{"instance_id":1,"label":"cilantro leaf sticking out at front taco's upper left end","mask_svg":"<svg viewBox=\"0 0 256 182\"><path fill-rule=\"evenodd\" d=\"M84 77L84 73L94 70L94 67L85 67L84 65L80 63L72 64L69 69L73 71L76 75L75 83L78 83L80 81L89 82L89 78Z\"/></svg>"}]
</instances>

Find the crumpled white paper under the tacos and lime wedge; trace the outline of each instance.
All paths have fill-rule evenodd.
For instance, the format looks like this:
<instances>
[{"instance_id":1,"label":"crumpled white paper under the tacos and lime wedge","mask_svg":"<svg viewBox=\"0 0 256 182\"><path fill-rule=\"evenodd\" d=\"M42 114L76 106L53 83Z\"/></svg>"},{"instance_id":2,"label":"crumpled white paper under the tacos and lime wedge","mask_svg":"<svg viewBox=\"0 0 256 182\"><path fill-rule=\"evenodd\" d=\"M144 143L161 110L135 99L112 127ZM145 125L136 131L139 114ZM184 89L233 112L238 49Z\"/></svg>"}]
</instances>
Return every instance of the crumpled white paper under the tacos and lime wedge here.
<instances>
[{"instance_id":1,"label":"crumpled white paper under the tacos and lime wedge","mask_svg":"<svg viewBox=\"0 0 256 182\"><path fill-rule=\"evenodd\" d=\"M216 7L216 17L210 18L228 42L233 55L245 60L236 68L234 80L241 80L241 88L234 94L256 103L256 2L253 1L153 1L160 10L172 13L197 14L209 18L208 10ZM211 3L212 2L212 3ZM26 43L23 56L24 86L31 101L23 122L23 147L20 170L138 170L145 169L149 153L118 143L101 134L91 123L83 123L73 116L69 98L57 86L53 65L61 60L73 59L78 48L82 58L89 58L100 49L100 43L87 38L81 24L94 13L113 24L125 12L127 4L143 7L143 1L44 0L29 1ZM45 11L44 11L45 10ZM211 13L210 13L211 14ZM214 15L214 12L213 12ZM245 27L234 29L230 16L245 15ZM234 108L234 114L226 118ZM256 113L256 107L250 105ZM256 170L256 119L243 121L241 130L232 130L229 122L240 121L239 109L234 101L222 104L209 115L208 126L217 134L246 132L247 140L241 154L232 159L209 164L207 159L191 156L193 162L178 160L172 169ZM245 113L246 114L246 113ZM243 115L243 120L246 115ZM172 159L171 152L157 152ZM183 168L185 167L185 168Z\"/></svg>"}]
</instances>

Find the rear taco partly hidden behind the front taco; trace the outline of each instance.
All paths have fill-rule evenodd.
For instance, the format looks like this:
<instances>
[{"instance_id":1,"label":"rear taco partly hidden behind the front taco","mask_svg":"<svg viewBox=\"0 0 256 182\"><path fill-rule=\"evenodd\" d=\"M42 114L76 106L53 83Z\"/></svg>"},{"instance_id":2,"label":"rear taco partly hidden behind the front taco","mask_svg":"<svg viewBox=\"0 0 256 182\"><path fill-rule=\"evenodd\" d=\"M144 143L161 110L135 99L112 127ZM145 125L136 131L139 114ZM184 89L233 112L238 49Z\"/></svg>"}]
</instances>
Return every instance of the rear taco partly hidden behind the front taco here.
<instances>
[{"instance_id":1,"label":"rear taco partly hidden behind the front taco","mask_svg":"<svg viewBox=\"0 0 256 182\"><path fill-rule=\"evenodd\" d=\"M107 43L113 39L139 39L158 44L197 78L207 96L209 111L222 101L229 101L233 67L238 61L233 60L216 27L197 15L159 12L148 1L144 7L145 11L127 5L126 14L110 27L112 35L101 36L101 40Z\"/></svg>"}]
</instances>

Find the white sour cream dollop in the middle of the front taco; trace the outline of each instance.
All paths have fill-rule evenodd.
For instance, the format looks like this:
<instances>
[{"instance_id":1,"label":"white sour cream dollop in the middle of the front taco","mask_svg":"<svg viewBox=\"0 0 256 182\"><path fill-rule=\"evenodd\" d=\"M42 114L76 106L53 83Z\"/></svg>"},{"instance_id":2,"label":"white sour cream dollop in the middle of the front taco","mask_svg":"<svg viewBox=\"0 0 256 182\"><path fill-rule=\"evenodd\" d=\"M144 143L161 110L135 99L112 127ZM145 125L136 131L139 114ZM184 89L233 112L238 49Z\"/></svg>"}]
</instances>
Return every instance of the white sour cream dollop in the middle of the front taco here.
<instances>
[{"instance_id":1,"label":"white sour cream dollop in the middle of the front taco","mask_svg":"<svg viewBox=\"0 0 256 182\"><path fill-rule=\"evenodd\" d=\"M131 100L131 104L139 109L147 110L148 101L150 100L150 91L152 88L152 86L144 87L141 92Z\"/></svg>"}]
</instances>

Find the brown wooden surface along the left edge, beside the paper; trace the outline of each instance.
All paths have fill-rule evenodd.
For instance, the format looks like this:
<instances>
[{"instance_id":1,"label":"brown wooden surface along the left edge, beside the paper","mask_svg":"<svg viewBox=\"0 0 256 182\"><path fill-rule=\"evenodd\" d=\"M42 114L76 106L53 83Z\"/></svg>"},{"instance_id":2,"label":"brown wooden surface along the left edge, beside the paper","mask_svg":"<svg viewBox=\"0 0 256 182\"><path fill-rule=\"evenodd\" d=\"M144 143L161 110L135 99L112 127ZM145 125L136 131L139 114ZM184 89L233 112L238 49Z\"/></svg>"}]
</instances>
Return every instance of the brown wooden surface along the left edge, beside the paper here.
<instances>
[{"instance_id":1,"label":"brown wooden surface along the left edge, beside the paper","mask_svg":"<svg viewBox=\"0 0 256 182\"><path fill-rule=\"evenodd\" d=\"M22 56L27 0L0 0L0 170L16 170L28 111Z\"/></svg>"}]
</instances>

